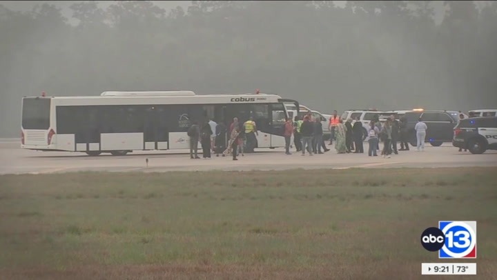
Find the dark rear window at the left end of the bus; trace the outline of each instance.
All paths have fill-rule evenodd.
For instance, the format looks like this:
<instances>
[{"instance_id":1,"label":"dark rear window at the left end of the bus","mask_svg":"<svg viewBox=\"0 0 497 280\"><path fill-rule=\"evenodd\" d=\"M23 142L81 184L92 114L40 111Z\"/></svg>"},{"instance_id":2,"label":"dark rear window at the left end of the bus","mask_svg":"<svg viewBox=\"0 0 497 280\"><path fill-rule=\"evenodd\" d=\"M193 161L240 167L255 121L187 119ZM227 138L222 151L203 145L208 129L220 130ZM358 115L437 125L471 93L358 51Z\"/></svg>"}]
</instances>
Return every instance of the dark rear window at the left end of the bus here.
<instances>
[{"instance_id":1,"label":"dark rear window at the left end of the bus","mask_svg":"<svg viewBox=\"0 0 497 280\"><path fill-rule=\"evenodd\" d=\"M22 127L26 130L48 130L50 128L50 99L23 99Z\"/></svg>"}]
</instances>

